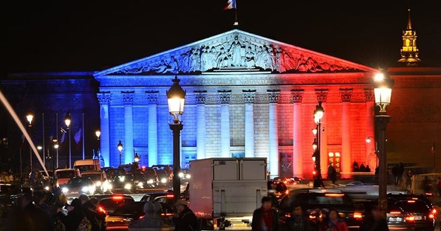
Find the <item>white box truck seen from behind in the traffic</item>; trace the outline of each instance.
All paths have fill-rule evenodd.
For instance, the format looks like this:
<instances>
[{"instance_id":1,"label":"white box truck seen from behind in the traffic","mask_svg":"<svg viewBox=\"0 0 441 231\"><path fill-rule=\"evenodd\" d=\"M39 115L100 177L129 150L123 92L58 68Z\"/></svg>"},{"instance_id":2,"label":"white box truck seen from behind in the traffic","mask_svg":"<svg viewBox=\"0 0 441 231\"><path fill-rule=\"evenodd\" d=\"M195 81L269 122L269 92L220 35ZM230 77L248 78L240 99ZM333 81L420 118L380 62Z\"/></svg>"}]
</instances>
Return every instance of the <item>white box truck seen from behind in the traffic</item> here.
<instances>
[{"instance_id":1,"label":"white box truck seen from behind in the traffic","mask_svg":"<svg viewBox=\"0 0 441 231\"><path fill-rule=\"evenodd\" d=\"M190 161L189 206L202 230L250 227L267 192L266 158Z\"/></svg>"}]
</instances>

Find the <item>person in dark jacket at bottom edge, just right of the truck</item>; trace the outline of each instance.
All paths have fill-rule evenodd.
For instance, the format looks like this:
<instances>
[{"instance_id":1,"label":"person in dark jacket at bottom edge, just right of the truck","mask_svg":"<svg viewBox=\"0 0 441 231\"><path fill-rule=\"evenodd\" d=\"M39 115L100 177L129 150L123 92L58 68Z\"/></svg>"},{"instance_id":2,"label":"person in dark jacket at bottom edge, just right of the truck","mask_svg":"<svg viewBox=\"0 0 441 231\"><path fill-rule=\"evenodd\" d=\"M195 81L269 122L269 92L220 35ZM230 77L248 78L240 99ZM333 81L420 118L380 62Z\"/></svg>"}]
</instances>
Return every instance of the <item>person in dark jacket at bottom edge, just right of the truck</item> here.
<instances>
[{"instance_id":1,"label":"person in dark jacket at bottom edge, just right of the truck","mask_svg":"<svg viewBox=\"0 0 441 231\"><path fill-rule=\"evenodd\" d=\"M262 206L254 210L251 225L253 231L278 231L278 215L272 208L271 198L262 197Z\"/></svg>"}]
</instances>

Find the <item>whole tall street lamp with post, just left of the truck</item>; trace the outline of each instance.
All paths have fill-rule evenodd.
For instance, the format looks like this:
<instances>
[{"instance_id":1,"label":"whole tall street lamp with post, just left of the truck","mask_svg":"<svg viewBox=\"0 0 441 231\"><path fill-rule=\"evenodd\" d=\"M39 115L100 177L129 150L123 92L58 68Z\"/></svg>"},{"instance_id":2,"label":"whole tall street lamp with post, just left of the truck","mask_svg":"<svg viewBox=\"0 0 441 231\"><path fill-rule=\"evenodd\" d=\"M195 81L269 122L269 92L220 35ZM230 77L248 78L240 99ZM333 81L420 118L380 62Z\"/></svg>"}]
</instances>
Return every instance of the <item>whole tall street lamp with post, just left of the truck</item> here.
<instances>
[{"instance_id":1,"label":"whole tall street lamp with post, just left of the truck","mask_svg":"<svg viewBox=\"0 0 441 231\"><path fill-rule=\"evenodd\" d=\"M173 131L173 195L174 199L181 198L181 157L180 155L180 136L183 129L182 121L179 115L184 113L184 103L186 91L179 85L181 80L174 76L173 85L167 91L168 111L173 115L173 122L169 122L170 129Z\"/></svg>"}]
</instances>

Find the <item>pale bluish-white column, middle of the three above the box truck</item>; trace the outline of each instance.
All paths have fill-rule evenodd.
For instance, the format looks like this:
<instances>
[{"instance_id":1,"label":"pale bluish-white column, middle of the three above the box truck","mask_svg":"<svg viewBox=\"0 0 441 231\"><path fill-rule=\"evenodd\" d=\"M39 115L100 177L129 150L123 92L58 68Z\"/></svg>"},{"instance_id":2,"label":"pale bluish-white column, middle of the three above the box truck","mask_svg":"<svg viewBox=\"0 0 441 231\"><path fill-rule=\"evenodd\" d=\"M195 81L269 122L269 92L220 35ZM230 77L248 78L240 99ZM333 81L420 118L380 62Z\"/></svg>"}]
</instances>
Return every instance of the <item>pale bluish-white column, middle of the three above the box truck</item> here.
<instances>
[{"instance_id":1,"label":"pale bluish-white column, middle of the three above the box truck","mask_svg":"<svg viewBox=\"0 0 441 231\"><path fill-rule=\"evenodd\" d=\"M220 157L232 157L230 153L229 103L232 91L218 91L220 99Z\"/></svg>"}]
</instances>

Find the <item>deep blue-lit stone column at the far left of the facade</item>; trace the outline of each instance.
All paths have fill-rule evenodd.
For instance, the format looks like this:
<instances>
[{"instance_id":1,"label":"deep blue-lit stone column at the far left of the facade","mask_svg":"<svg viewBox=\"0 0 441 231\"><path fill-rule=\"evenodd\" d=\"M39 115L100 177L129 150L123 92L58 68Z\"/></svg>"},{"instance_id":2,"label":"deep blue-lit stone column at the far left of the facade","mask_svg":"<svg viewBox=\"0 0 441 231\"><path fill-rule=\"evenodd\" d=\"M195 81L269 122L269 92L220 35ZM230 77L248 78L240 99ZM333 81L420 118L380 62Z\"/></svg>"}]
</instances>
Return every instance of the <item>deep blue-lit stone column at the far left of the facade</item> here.
<instances>
[{"instance_id":1,"label":"deep blue-lit stone column at the far left of the facade","mask_svg":"<svg viewBox=\"0 0 441 231\"><path fill-rule=\"evenodd\" d=\"M109 104L111 102L110 91L101 91L96 94L99 101L100 111L100 130L101 135L99 137L100 153L104 159L104 166L110 166L110 127L109 127Z\"/></svg>"}]
</instances>

